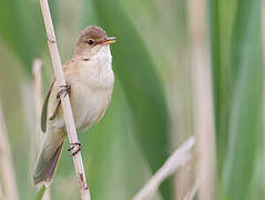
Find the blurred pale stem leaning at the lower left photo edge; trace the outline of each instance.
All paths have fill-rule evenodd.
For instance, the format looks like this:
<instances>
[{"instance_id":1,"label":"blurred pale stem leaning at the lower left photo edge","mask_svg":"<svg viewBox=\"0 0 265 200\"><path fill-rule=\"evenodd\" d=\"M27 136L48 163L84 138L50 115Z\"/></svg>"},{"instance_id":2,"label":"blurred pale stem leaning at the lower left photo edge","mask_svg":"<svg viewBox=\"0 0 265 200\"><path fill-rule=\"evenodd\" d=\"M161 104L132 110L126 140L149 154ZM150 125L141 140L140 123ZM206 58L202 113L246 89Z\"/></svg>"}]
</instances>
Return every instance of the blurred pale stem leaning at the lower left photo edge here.
<instances>
[{"instance_id":1,"label":"blurred pale stem leaning at the lower left photo edge","mask_svg":"<svg viewBox=\"0 0 265 200\"><path fill-rule=\"evenodd\" d=\"M4 196L10 200L19 200L16 184L14 170L11 158L10 144L6 122L0 102L0 170Z\"/></svg>"}]
</instances>

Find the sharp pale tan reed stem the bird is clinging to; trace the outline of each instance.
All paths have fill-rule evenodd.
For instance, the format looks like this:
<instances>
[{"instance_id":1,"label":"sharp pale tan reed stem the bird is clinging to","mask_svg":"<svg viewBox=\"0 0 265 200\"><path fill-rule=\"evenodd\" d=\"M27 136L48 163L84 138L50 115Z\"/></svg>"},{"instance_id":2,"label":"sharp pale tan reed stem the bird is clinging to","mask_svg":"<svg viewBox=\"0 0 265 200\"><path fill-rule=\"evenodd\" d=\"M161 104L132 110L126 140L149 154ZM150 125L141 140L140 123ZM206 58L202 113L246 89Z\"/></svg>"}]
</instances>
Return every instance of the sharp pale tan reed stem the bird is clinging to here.
<instances>
[{"instance_id":1,"label":"sharp pale tan reed stem the bird is clinging to","mask_svg":"<svg viewBox=\"0 0 265 200\"><path fill-rule=\"evenodd\" d=\"M42 16L43 16L44 24L45 24L48 44L49 44L49 50L50 50L50 54L51 54L51 59L53 63L55 79L58 84L65 86L65 79L62 72L61 58L57 47L57 39L55 39L53 24L51 20L50 8L47 0L40 0L40 4L41 4L41 11L42 11ZM62 102L64 121L65 121L65 126L68 130L69 142L77 143L79 142L79 140L78 140L78 134L74 127L72 108L70 104L69 96L68 94L65 97L61 96L61 102ZM81 152L78 152L75 156L73 156L73 163L74 163L74 169L75 169L75 173L77 173L77 178L78 178L78 182L80 187L81 197L83 200L84 199L90 200L90 191L85 180L85 173L84 173L84 167L83 167Z\"/></svg>"}]
</instances>

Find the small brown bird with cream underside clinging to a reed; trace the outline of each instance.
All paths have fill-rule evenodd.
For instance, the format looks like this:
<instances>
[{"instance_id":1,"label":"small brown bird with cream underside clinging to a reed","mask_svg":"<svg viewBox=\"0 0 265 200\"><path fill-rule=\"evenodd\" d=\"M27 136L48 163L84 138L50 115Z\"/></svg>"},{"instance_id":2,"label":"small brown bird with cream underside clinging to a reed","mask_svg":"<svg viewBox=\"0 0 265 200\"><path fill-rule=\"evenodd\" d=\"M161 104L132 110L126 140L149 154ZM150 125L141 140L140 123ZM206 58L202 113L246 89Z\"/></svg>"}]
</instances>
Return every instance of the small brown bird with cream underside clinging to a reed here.
<instances>
[{"instance_id":1,"label":"small brown bird with cream underside clinging to a reed","mask_svg":"<svg viewBox=\"0 0 265 200\"><path fill-rule=\"evenodd\" d=\"M110 44L115 37L96 26L86 27L79 37L75 51L62 67L65 86L53 79L43 102L41 130L45 138L33 172L34 184L50 186L61 156L67 127L61 107L61 96L69 93L74 124L78 131L86 131L104 116L114 86ZM71 143L70 143L71 144ZM69 150L81 143L72 143Z\"/></svg>"}]
</instances>

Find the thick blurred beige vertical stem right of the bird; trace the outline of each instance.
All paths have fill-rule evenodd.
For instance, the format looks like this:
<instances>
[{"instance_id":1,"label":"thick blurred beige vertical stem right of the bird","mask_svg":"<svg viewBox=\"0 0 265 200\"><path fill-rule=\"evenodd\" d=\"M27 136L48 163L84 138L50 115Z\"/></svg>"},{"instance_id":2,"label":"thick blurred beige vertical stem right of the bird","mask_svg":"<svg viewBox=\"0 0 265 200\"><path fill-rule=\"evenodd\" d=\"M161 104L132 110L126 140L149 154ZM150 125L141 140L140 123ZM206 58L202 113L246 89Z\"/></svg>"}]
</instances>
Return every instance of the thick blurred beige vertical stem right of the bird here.
<instances>
[{"instance_id":1,"label":"thick blurred beige vertical stem right of the bird","mask_svg":"<svg viewBox=\"0 0 265 200\"><path fill-rule=\"evenodd\" d=\"M216 158L206 13L205 0L188 1L193 67L194 131L197 140L197 172L201 180L198 199L213 200L216 199Z\"/></svg>"}]
</instances>

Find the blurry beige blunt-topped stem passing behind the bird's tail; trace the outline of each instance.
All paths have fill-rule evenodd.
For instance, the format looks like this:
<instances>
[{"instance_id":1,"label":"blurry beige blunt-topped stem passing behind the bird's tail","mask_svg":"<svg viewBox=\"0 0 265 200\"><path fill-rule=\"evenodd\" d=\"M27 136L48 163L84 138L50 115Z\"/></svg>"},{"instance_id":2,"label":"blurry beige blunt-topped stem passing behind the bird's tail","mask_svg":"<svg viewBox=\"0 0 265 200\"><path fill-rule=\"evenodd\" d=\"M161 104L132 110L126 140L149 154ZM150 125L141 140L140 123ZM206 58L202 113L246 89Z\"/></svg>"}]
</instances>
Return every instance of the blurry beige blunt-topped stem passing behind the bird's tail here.
<instances>
[{"instance_id":1,"label":"blurry beige blunt-topped stem passing behind the bird's tail","mask_svg":"<svg viewBox=\"0 0 265 200\"><path fill-rule=\"evenodd\" d=\"M34 106L35 106L35 141L38 151L41 150L41 141L44 141L44 134L42 133L40 127L41 121L41 110L42 110L42 76L41 76L41 60L34 59L32 72L33 72L33 87L34 87ZM42 200L50 200L51 191L50 187L45 189Z\"/></svg>"}]
</instances>

